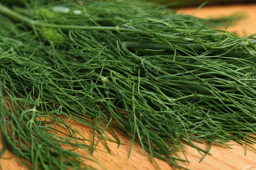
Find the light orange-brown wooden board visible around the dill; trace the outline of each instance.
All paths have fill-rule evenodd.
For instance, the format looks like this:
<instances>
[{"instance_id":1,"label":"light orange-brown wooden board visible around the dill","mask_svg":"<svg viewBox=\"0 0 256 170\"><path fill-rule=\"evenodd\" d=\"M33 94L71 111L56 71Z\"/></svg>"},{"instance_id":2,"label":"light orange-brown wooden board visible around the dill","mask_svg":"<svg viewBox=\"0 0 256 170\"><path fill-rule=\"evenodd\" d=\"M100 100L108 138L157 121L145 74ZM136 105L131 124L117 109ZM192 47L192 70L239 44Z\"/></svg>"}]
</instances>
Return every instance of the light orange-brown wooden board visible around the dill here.
<instances>
[{"instance_id":1,"label":"light orange-brown wooden board visible around the dill","mask_svg":"<svg viewBox=\"0 0 256 170\"><path fill-rule=\"evenodd\" d=\"M192 14L195 8L181 9L180 12L186 14ZM254 22L254 17L256 16L256 5L240 5L240 6L214 6L214 7L204 7L199 11L195 12L195 16L198 17L216 17L216 16L227 16L229 14L244 12L247 18L240 21L236 26L228 28L228 31L237 31L240 36L246 34L256 33L256 22ZM67 120L68 121L68 120ZM78 124L73 120L68 121L70 125L79 130L85 137L92 139L92 131L90 128L84 125ZM117 148L117 144L109 142L109 147L112 154L104 153L100 150L105 150L103 142L99 143L98 150L95 151L93 156L99 160L102 167L108 170L157 170L157 167L151 162L149 156L143 153L142 148L139 144L134 144L130 158L128 159L128 153L130 148L130 140L117 131L121 142L125 145L121 145ZM211 156L207 156L204 161L199 163L201 159L200 153L191 147L187 147L187 157L190 161L189 164L183 164L191 170L256 170L256 151L251 148L247 148L247 155L245 156L244 146L237 144L235 142L230 142L233 149L228 149L225 147L220 147L214 145L210 153ZM207 143L198 144L201 147L207 149ZM0 141L0 148L3 147L2 141ZM89 156L84 150L76 150L84 156ZM0 163L3 170L26 170L15 156L9 151L4 153L4 158L1 159ZM156 160L158 165L162 170L172 170L166 162ZM93 162L86 162L92 167L97 169L103 169L98 164Z\"/></svg>"}]
</instances>

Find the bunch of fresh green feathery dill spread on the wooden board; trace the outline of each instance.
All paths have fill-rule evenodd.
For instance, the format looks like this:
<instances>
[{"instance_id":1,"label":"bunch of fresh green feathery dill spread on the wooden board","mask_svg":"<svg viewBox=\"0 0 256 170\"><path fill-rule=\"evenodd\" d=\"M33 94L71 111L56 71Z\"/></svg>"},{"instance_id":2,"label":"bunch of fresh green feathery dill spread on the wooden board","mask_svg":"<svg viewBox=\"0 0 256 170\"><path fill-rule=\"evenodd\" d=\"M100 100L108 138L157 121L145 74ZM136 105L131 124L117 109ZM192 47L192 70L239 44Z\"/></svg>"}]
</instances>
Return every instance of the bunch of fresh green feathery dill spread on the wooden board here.
<instances>
[{"instance_id":1,"label":"bunch of fresh green feathery dill spread on the wooden board","mask_svg":"<svg viewBox=\"0 0 256 170\"><path fill-rule=\"evenodd\" d=\"M256 34L140 1L23 3L0 3L0 155L8 149L35 170L90 169L63 146L120 144L116 128L177 168L188 161L177 156L184 144L202 156L230 140L253 147ZM64 117L93 128L98 142Z\"/></svg>"}]
</instances>

